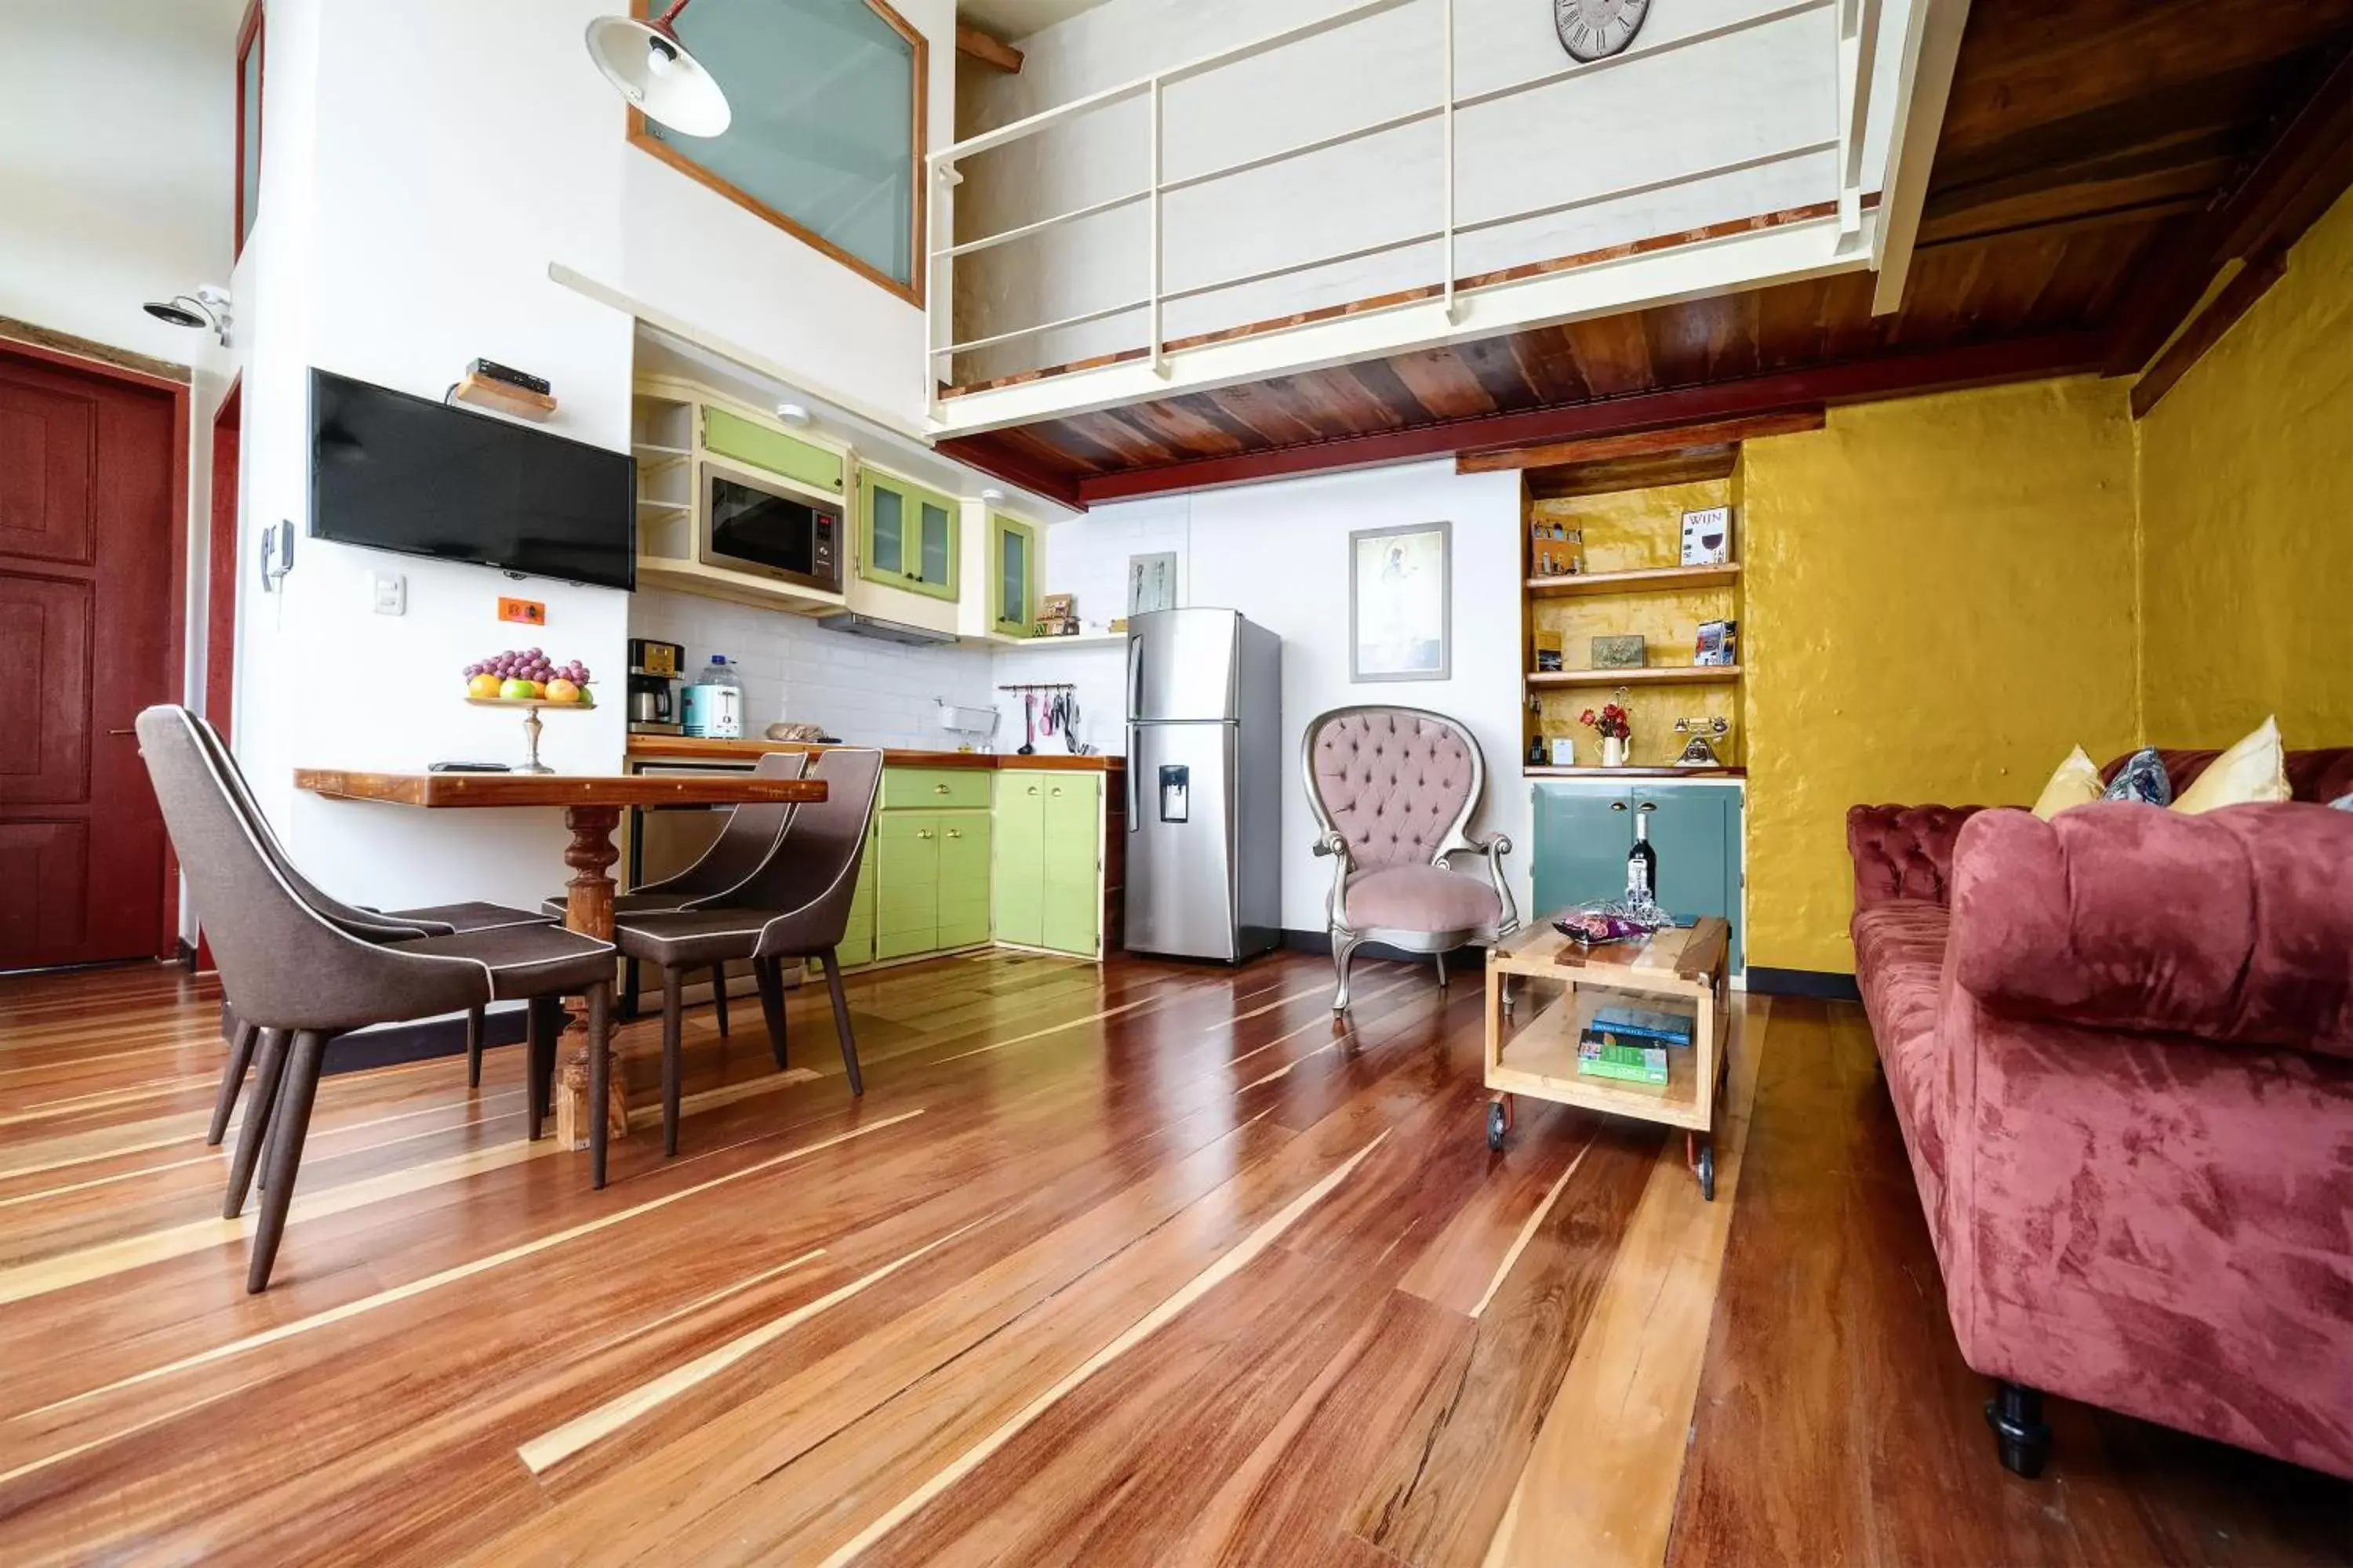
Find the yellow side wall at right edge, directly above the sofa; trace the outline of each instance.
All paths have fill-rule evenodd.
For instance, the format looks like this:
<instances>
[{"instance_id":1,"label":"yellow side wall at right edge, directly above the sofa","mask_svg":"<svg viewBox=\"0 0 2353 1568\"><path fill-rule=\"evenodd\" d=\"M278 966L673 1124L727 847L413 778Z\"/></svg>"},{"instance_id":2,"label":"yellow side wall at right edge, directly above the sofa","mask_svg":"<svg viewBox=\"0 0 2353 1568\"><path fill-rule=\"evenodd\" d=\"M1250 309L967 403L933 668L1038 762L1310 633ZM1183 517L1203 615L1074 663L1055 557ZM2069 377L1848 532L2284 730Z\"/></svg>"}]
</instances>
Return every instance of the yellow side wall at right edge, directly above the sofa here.
<instances>
[{"instance_id":1,"label":"yellow side wall at right edge, directly above the sofa","mask_svg":"<svg viewBox=\"0 0 2353 1568\"><path fill-rule=\"evenodd\" d=\"M2139 425L2155 745L2353 745L2353 195Z\"/></svg>"}]
</instances>

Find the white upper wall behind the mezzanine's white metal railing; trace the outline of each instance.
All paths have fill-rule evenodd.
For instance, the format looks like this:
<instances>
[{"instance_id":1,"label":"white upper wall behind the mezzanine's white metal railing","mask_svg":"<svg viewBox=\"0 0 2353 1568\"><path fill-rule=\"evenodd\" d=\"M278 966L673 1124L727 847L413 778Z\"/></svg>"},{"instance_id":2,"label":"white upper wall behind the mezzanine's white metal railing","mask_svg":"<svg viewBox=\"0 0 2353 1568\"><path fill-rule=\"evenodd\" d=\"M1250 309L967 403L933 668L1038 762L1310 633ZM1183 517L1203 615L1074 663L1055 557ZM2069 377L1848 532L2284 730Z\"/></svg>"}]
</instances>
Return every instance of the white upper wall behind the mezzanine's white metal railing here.
<instances>
[{"instance_id":1,"label":"white upper wall behind the mezzanine's white metal railing","mask_svg":"<svg viewBox=\"0 0 2353 1568\"><path fill-rule=\"evenodd\" d=\"M1111 0L1021 40L1019 75L967 73L965 132L1007 125L1151 71L1214 54L1344 9L1339 0ZM1457 115L1457 216L1609 197L1642 183L1784 153L1835 136L1835 21L1814 9L1753 31L1701 38L1781 9L1781 0L1678 0L1652 9L1624 61ZM1882 78L1892 80L1906 5L1887 7ZM1162 103L1162 174L1184 179L1400 113L1442 94L1442 9L1414 0L1369 21L1174 82ZM1553 7L1457 0L1457 92L1527 82L1569 63ZM1689 40L1659 54L1642 52ZM1866 148L1885 148L1887 101ZM1139 190L1146 101L1089 110L972 158L958 190L958 240L1002 233ZM1162 212L1165 287L1212 284L1261 268L1384 244L1440 226L1442 134L1435 120L1172 193ZM1875 162L1866 162L1875 167ZM1875 181L1866 179L1866 186ZM1835 158L1713 176L1649 195L1598 200L1546 219L1464 235L1461 275L1748 219L1838 193ZM1188 336L1294 310L1433 284L1435 240L1167 306ZM1148 287L1144 205L1082 219L960 259L955 339L1134 301ZM1132 348L1144 315L1059 329L958 362L958 378Z\"/></svg>"}]
</instances>

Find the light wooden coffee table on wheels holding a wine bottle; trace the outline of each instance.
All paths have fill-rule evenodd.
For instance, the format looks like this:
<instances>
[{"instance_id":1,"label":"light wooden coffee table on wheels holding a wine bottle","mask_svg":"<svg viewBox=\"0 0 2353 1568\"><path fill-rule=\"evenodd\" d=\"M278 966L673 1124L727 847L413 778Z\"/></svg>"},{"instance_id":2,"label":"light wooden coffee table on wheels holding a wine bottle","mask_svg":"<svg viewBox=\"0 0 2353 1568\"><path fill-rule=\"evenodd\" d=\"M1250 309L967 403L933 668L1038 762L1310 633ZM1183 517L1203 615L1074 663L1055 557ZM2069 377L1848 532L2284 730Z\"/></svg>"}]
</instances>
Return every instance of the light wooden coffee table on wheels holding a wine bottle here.
<instances>
[{"instance_id":1,"label":"light wooden coffee table on wheels holding a wine bottle","mask_svg":"<svg viewBox=\"0 0 2353 1568\"><path fill-rule=\"evenodd\" d=\"M1555 1105L1584 1105L1612 1117L1640 1117L1682 1128L1682 1157L1699 1178L1699 1192L1715 1201L1715 1095L1725 1079L1729 1030L1725 969L1732 926L1706 914L1638 943L1577 947L1539 919L1487 952L1487 1145L1501 1150L1511 1131L1513 1095ZM1560 985L1527 1023L1506 1037L1506 994L1513 978ZM1534 999L1532 999L1534 1001ZM1666 1053L1668 1081L1624 1084L1577 1072L1577 1039L1605 1006L1647 1006L1692 1013L1692 1044Z\"/></svg>"}]
</instances>

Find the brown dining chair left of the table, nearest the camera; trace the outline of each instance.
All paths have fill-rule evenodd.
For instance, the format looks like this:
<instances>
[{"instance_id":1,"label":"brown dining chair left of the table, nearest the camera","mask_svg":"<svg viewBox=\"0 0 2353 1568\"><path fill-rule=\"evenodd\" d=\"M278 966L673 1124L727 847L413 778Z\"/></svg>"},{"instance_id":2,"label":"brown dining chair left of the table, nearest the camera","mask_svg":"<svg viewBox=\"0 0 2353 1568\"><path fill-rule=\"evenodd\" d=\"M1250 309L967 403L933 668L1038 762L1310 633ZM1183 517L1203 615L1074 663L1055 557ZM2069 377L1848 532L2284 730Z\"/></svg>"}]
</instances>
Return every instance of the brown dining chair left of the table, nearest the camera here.
<instances>
[{"instance_id":1,"label":"brown dining chair left of the table, nearest the camera","mask_svg":"<svg viewBox=\"0 0 2353 1568\"><path fill-rule=\"evenodd\" d=\"M221 969L221 985L261 1034L261 1067L224 1218L245 1208L245 1182L266 1147L261 1218L254 1227L247 1291L264 1291L294 1173L311 1131L327 1041L379 1023L456 1013L487 1001L541 999L565 992L588 997L591 1147L598 1185L605 1178L605 1114L609 1103L609 943L546 922L492 931L367 940L315 910L264 846L266 825L249 818L231 773L205 743L200 722L179 705L139 715L139 755L162 806L165 830ZM546 1070L534 1063L532 1135L546 1119Z\"/></svg>"}]
</instances>

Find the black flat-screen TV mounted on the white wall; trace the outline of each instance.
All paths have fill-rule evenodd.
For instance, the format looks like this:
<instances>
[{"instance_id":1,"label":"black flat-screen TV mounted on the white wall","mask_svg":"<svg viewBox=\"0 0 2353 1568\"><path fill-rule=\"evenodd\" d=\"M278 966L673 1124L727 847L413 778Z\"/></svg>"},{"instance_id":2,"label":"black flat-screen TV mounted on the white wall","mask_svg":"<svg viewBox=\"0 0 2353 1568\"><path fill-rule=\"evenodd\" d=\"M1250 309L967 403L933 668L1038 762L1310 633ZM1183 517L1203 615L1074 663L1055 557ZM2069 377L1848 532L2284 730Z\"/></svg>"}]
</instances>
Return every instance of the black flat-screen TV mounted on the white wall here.
<instances>
[{"instance_id":1,"label":"black flat-screen TV mounted on the white wall","mask_svg":"<svg viewBox=\"0 0 2353 1568\"><path fill-rule=\"evenodd\" d=\"M311 534L638 585L638 468L492 414L311 371Z\"/></svg>"}]
</instances>

